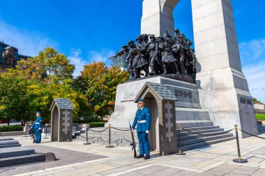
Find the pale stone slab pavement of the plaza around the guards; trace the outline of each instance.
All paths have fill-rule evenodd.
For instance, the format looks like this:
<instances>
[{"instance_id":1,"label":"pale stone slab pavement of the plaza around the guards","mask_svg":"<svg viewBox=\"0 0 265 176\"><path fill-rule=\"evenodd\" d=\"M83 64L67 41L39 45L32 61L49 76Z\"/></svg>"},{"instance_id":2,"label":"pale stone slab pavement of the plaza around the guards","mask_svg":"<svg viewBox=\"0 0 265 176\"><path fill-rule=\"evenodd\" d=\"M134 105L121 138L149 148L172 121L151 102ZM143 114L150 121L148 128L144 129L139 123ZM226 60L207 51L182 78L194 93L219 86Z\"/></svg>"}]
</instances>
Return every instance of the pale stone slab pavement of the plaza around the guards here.
<instances>
[{"instance_id":1,"label":"pale stone slab pavement of the plaza around the guards","mask_svg":"<svg viewBox=\"0 0 265 176\"><path fill-rule=\"evenodd\" d=\"M262 136L265 137L265 134ZM15 139L23 146L32 145L30 138ZM133 159L132 150L127 147L106 148L105 145L83 145L82 141L51 143L46 140L34 148L37 151L38 148L40 151L44 148L54 149L55 153L67 150L73 158L81 160L70 162L69 158L63 159L63 155L58 155L57 158L61 157L64 161L63 165L56 165L61 160L59 159L48 163L50 168L40 168L29 173L20 170L19 175L265 175L265 140L251 137L239 141L241 156L248 159L248 163L233 163L232 159L237 158L236 140L192 150L185 156L172 154L159 157L155 151L151 152L151 159L148 161ZM47 163L38 164L41 166ZM12 170L16 168L0 168L0 175L12 175Z\"/></svg>"}]
</instances>

